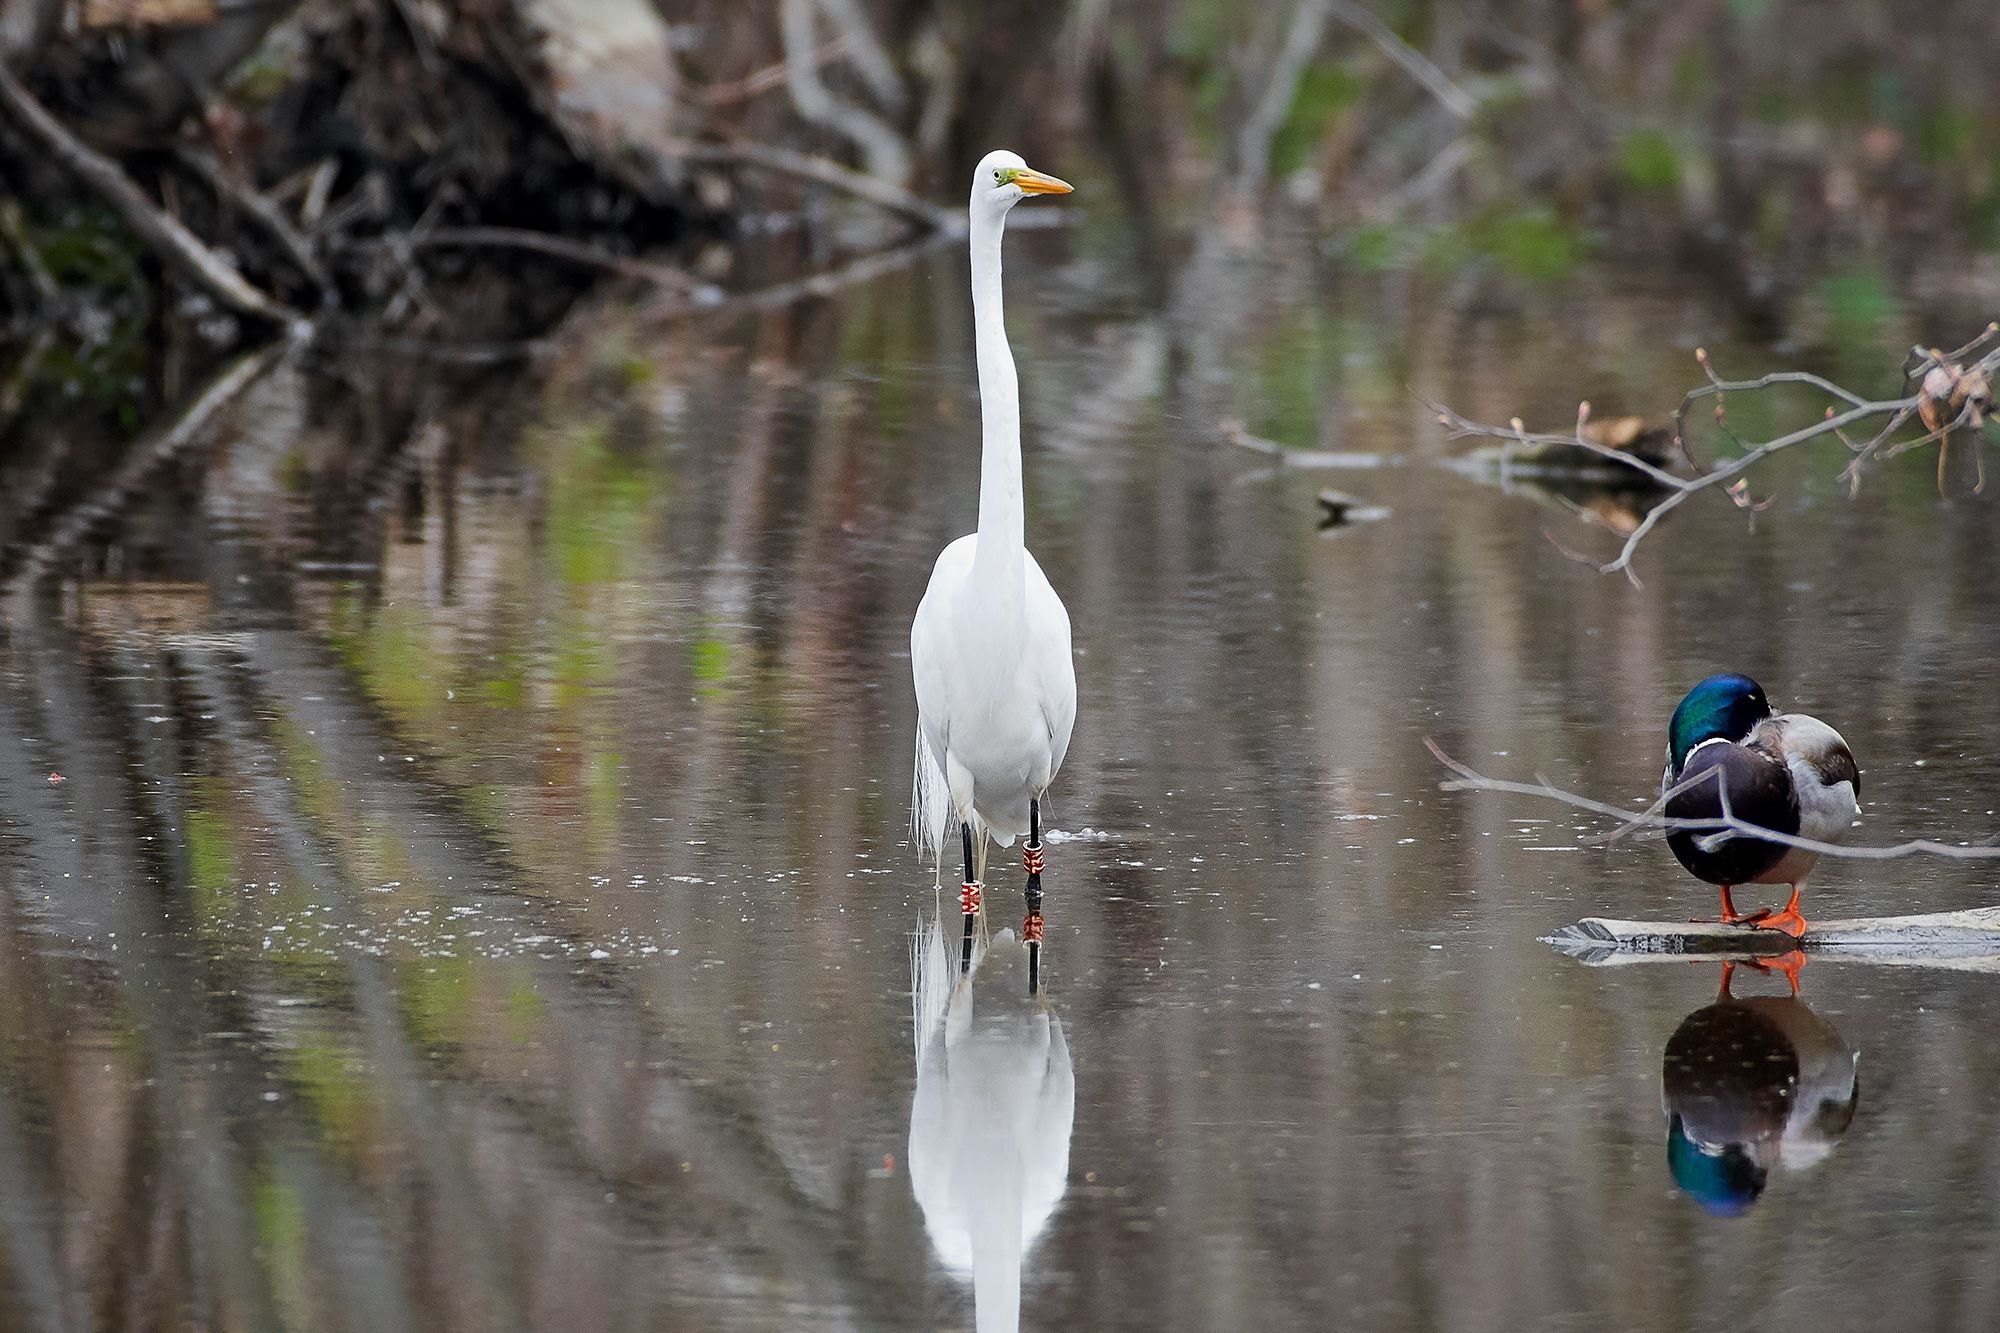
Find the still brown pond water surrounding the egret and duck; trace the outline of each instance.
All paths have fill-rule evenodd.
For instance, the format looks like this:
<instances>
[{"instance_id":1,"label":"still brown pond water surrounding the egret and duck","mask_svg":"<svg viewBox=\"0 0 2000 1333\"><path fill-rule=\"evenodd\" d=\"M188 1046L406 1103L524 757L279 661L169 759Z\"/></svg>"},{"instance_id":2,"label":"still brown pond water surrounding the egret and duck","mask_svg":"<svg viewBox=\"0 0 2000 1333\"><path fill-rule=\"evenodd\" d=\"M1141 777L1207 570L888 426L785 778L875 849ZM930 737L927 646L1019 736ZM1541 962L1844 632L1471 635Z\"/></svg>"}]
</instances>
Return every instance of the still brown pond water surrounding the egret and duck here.
<instances>
[{"instance_id":1,"label":"still brown pond water surrounding the egret and duck","mask_svg":"<svg viewBox=\"0 0 2000 1333\"><path fill-rule=\"evenodd\" d=\"M1774 350L1672 276L1440 296L1286 242L1200 248L1158 312L1112 250L1010 258L1080 687L1048 857L1074 1119L1024 1327L1994 1327L2000 977L1808 967L1852 1125L1712 1215L1662 1057L1716 967L1536 943L1708 889L1440 795L1422 747L1630 799L1730 666L1846 733L1872 841L2000 829L1992 500L1912 456L1848 502L1806 450L1754 530L1688 504L1634 588L1550 542L1604 532L1436 466L1410 392L1658 412L1696 344L1888 392L1960 324ZM606 302L464 384L288 366L16 600L0 1323L972 1325L908 1175L904 833L908 620L976 508L962 286L942 252L710 326ZM1274 474L1222 420L1384 464ZM1392 512L1320 532L1322 484ZM992 877L1002 921L1016 895ZM1844 863L1806 907L1996 899Z\"/></svg>"}]
</instances>

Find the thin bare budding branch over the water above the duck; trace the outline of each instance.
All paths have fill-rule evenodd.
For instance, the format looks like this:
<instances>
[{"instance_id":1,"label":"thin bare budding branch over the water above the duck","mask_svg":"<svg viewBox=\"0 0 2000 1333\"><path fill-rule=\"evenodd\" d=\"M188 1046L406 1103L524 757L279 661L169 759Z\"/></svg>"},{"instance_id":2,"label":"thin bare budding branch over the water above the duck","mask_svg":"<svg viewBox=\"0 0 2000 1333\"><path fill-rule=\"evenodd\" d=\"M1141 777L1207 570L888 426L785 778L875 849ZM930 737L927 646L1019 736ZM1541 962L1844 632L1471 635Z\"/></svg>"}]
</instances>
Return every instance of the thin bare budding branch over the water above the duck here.
<instances>
[{"instance_id":1,"label":"thin bare budding branch over the water above the duck","mask_svg":"<svg viewBox=\"0 0 2000 1333\"><path fill-rule=\"evenodd\" d=\"M1664 492L1654 504L1650 504L1638 524L1624 536L1624 544L1618 554L1610 560L1594 560L1570 550L1572 558L1584 560L1596 566L1600 574L1622 572L1634 584L1640 582L1638 572L1632 568L1632 556L1638 552L1640 542L1666 518L1672 510L1680 508L1690 496L1724 488L1730 500L1744 510L1756 512L1764 508L1764 502L1750 498L1748 480L1744 472L1764 462L1776 452L1792 448L1794 444L1804 444L1820 436L1834 436L1848 446L1852 458L1848 466L1840 472L1842 480L1848 482L1850 494L1860 488L1862 468L1876 458L1894 458L1912 448L1936 442L1940 446L1938 454L1938 478L1940 490L1944 480L1944 448L1948 448L1950 438L1956 430L1978 428L1986 422L1986 414L1992 410L1992 390L1990 382L1996 372L2000 372L2000 324L1988 324L1980 336L1962 348L1944 352L1938 348L1914 348L1916 368L1910 376L1918 384L1918 392L1904 398L1864 398L1832 380L1808 374L1804 370L1776 370L1754 380L1724 380L1716 374L1708 360L1708 352L1696 348L1694 358L1702 366L1702 374L1708 376L1706 384L1690 388L1674 410L1674 448L1688 460L1694 476L1680 476L1668 468L1654 462L1638 458L1636 454L1592 440L1584 426L1590 422L1590 404L1580 402L1576 408L1576 426L1568 434L1532 432L1516 416L1506 426L1492 426L1486 422L1472 420L1454 412L1452 408L1424 400L1438 424L1444 426L1446 438L1492 438L1520 448L1562 444L1582 448L1586 452L1598 454L1610 462L1632 468L1636 474L1644 476L1648 482L1660 486ZM1974 358L1974 354L1978 356ZM1840 402L1840 406L1826 408L1826 416L1810 426L1800 426L1772 440L1752 444L1736 436L1724 412L1724 402L1728 394L1756 392L1776 384L1804 384L1816 388ZM1734 442L1742 452L1734 458L1718 462L1714 466L1702 464L1688 444L1686 416L1688 408L1704 398L1716 400L1716 428ZM1896 432L1910 422L1910 418L1920 418L1926 432L1916 438L1896 440ZM1882 420L1882 426L1874 430L1864 442L1856 442L1848 434L1850 426L1862 422ZM1984 464L1980 472L1984 484Z\"/></svg>"}]
</instances>

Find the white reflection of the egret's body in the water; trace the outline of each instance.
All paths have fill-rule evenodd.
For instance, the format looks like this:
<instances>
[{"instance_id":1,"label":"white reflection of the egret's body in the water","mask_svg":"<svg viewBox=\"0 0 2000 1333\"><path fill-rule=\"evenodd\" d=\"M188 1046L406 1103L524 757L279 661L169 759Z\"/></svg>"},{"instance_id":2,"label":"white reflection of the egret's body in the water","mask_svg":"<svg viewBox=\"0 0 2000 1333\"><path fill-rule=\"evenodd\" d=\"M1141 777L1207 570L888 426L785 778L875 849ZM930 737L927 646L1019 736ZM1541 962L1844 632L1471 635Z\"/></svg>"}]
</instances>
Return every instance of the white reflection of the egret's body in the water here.
<instances>
[{"instance_id":1,"label":"white reflection of the egret's body in the water","mask_svg":"<svg viewBox=\"0 0 2000 1333\"><path fill-rule=\"evenodd\" d=\"M1046 993L1024 993L1028 947L1012 931L960 977L932 921L910 971L910 1187L940 1263L972 1277L978 1333L1012 1331L1022 1261L1070 1179L1070 1047Z\"/></svg>"}]
</instances>

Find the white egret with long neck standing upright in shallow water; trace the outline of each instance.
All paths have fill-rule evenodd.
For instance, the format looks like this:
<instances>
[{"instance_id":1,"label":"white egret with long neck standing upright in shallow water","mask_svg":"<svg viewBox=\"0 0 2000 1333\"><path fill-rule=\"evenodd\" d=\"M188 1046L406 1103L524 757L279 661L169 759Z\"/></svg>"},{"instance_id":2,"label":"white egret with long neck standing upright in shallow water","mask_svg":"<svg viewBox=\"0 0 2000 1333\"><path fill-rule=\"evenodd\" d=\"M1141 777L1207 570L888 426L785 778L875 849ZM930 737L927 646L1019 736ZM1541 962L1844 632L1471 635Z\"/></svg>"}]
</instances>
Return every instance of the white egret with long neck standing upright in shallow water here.
<instances>
[{"instance_id":1,"label":"white egret with long neck standing upright in shallow water","mask_svg":"<svg viewBox=\"0 0 2000 1333\"><path fill-rule=\"evenodd\" d=\"M1070 612L1028 554L1020 486L1020 386L1000 312L1000 236L1030 194L1070 186L1012 152L988 152L972 172L972 334L980 366L980 530L960 536L930 570L910 626L916 677L918 847L942 869L956 817L966 877L960 971L972 967L986 839L1026 835L1028 987L1040 981L1042 795L1070 749L1076 669Z\"/></svg>"}]
</instances>

